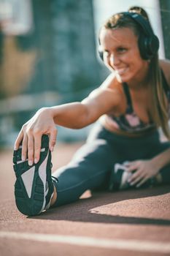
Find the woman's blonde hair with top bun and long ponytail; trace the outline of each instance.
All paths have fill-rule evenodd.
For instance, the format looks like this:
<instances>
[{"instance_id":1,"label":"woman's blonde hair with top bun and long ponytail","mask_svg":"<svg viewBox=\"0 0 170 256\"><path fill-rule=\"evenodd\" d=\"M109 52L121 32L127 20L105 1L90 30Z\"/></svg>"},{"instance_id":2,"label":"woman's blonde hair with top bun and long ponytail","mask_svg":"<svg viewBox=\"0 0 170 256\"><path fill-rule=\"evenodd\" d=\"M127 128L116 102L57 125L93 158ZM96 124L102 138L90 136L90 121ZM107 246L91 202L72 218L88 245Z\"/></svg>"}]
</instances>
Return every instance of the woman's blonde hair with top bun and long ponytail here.
<instances>
[{"instance_id":1,"label":"woman's blonde hair with top bun and long ponytail","mask_svg":"<svg viewBox=\"0 0 170 256\"><path fill-rule=\"evenodd\" d=\"M129 11L138 12L150 23L147 12L145 12L142 8L132 7L129 9ZM139 37L139 33L141 33L141 29L139 29L139 24L137 24L134 20L128 17L128 15L123 15L123 13L112 15L112 17L109 18L106 23L104 23L103 28L130 28L134 31L134 34L136 34L137 37ZM152 100L152 121L155 123L156 127L162 128L163 134L166 136L166 138L170 140L169 116L166 103L166 94L163 89L163 81L161 76L161 68L159 66L158 53L156 53L150 59L150 93L150 100Z\"/></svg>"}]
</instances>

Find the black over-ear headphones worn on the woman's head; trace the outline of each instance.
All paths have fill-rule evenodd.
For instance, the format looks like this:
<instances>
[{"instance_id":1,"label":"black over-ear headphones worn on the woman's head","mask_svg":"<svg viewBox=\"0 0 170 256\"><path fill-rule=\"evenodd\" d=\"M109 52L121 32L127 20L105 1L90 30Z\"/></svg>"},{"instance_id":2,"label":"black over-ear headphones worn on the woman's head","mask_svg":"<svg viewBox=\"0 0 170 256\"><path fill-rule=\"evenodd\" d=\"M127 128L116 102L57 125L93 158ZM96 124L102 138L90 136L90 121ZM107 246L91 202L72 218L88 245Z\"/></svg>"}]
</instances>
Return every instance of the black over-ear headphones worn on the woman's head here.
<instances>
[{"instance_id":1,"label":"black over-ear headphones worn on the woman's head","mask_svg":"<svg viewBox=\"0 0 170 256\"><path fill-rule=\"evenodd\" d=\"M145 59L145 60L151 59L152 56L154 56L155 53L158 52L159 39L153 33L150 23L147 20L145 20L145 18L143 18L142 15L136 12L120 12L120 14L127 15L128 17L135 20L135 22L139 24L139 27L143 32L139 34L139 40L138 40L140 55L142 59ZM100 58L103 61L104 53L100 46L100 40L99 40L98 53Z\"/></svg>"}]
</instances>

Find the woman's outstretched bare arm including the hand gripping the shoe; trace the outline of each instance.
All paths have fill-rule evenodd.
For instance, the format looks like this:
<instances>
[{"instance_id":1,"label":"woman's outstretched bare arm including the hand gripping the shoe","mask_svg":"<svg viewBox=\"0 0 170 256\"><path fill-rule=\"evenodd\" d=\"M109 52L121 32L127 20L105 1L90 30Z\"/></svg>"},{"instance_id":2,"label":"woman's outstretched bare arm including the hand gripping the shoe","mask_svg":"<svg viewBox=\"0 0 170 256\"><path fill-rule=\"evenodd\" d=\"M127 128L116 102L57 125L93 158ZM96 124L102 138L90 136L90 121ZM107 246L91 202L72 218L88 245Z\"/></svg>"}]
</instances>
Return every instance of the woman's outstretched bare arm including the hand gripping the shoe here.
<instances>
[{"instance_id":1,"label":"woman's outstretched bare arm including the hand gripping the shoe","mask_svg":"<svg viewBox=\"0 0 170 256\"><path fill-rule=\"evenodd\" d=\"M50 135L50 150L55 146L57 129L55 124L79 129L92 124L99 116L120 104L120 91L110 89L111 76L82 102L63 104L52 108L42 108L23 125L15 142L15 150L22 141L22 159L30 163L39 161L41 139L43 134ZM114 86L113 86L114 87Z\"/></svg>"}]
</instances>

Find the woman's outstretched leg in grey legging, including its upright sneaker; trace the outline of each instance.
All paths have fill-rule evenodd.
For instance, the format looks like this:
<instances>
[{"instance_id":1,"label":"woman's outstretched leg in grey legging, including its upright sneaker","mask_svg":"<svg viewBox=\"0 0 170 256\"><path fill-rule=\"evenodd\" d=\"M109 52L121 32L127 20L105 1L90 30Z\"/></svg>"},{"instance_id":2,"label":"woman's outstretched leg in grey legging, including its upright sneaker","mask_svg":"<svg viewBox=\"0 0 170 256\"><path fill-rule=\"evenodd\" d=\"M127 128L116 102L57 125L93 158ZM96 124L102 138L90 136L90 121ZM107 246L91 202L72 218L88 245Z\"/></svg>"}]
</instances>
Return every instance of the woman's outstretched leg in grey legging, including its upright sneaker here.
<instances>
[{"instance_id":1,"label":"woman's outstretched leg in grey legging, including its upright sneaker","mask_svg":"<svg viewBox=\"0 0 170 256\"><path fill-rule=\"evenodd\" d=\"M113 148L102 128L97 133L93 141L86 143L75 154L69 165L55 173L60 178L60 184L57 184L56 177L51 176L51 153L47 135L42 136L40 160L32 166L28 165L27 159L22 161L20 145L18 151L14 151L13 158L18 210L28 216L37 215L55 202L55 188L58 197L54 206L58 206L77 200L86 189L98 187L106 181L112 166Z\"/></svg>"}]
</instances>

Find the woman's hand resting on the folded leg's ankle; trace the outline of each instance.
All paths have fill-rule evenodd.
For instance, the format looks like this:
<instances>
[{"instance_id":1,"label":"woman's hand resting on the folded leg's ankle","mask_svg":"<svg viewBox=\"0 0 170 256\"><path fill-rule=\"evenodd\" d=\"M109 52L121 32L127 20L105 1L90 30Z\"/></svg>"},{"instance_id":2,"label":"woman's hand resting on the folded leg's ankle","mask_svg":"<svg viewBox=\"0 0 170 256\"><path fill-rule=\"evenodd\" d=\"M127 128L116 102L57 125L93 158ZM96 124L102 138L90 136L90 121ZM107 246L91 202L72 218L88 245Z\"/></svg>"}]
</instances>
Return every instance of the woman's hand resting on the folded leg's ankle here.
<instances>
[{"instance_id":1,"label":"woman's hand resting on the folded leg's ankle","mask_svg":"<svg viewBox=\"0 0 170 256\"><path fill-rule=\"evenodd\" d=\"M136 185L136 187L140 187L149 178L155 176L159 171L158 167L154 165L152 159L128 162L125 164L125 167L127 167L128 172L135 171L128 179L128 182L131 186Z\"/></svg>"}]
</instances>

